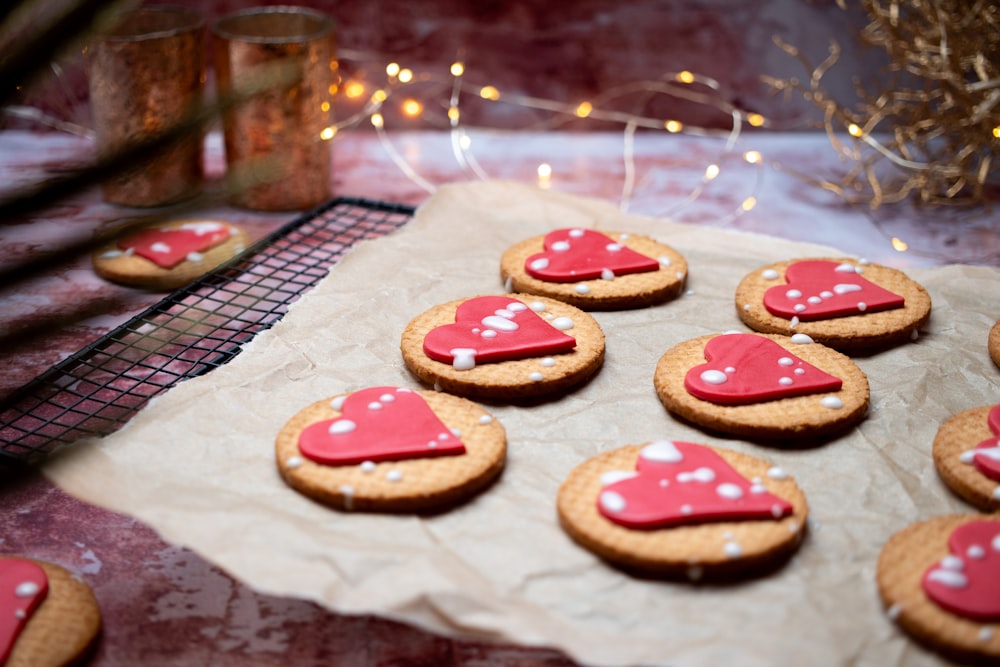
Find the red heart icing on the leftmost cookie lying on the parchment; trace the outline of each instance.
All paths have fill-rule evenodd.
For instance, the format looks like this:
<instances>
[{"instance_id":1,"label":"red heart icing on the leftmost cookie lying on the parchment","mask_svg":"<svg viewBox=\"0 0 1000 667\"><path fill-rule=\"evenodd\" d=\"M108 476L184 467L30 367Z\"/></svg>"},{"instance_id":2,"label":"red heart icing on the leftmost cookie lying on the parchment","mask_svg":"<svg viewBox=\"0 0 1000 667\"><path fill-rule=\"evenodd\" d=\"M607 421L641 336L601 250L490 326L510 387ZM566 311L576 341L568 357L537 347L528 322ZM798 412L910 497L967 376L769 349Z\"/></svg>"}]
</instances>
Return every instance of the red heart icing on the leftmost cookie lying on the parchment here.
<instances>
[{"instance_id":1,"label":"red heart icing on the leftmost cookie lying on the parchment","mask_svg":"<svg viewBox=\"0 0 1000 667\"><path fill-rule=\"evenodd\" d=\"M453 456L465 444L415 391L370 387L337 402L340 416L310 424L299 451L325 465Z\"/></svg>"}]
</instances>

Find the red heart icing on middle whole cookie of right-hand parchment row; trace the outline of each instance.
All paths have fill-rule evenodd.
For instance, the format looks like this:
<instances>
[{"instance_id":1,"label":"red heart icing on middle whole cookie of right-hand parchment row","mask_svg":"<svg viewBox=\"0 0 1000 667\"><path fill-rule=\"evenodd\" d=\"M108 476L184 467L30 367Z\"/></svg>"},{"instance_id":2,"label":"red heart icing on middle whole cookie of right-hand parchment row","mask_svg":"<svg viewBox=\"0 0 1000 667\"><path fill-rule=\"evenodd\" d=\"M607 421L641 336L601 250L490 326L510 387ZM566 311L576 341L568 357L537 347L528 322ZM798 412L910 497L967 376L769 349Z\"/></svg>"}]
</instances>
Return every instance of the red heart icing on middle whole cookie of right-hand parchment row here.
<instances>
[{"instance_id":1,"label":"red heart icing on middle whole cookie of right-hand parchment row","mask_svg":"<svg viewBox=\"0 0 1000 667\"><path fill-rule=\"evenodd\" d=\"M692 396L721 405L840 391L843 386L840 378L754 334L712 338L705 345L705 359L708 363L684 376L684 388Z\"/></svg>"}]
</instances>

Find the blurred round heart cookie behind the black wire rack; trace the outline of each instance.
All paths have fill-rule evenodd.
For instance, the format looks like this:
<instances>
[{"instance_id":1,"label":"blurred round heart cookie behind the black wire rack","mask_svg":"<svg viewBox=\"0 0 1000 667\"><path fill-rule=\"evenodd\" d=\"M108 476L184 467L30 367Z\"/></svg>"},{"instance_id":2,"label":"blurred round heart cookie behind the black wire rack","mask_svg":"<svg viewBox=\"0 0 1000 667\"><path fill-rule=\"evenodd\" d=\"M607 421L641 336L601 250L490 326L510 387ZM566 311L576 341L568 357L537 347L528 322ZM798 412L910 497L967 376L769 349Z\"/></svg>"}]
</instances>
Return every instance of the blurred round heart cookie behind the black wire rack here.
<instances>
[{"instance_id":1,"label":"blurred round heart cookie behind the black wire rack","mask_svg":"<svg viewBox=\"0 0 1000 667\"><path fill-rule=\"evenodd\" d=\"M174 220L127 233L94 251L105 280L152 291L187 285L243 252L243 230L219 220Z\"/></svg>"}]
</instances>

